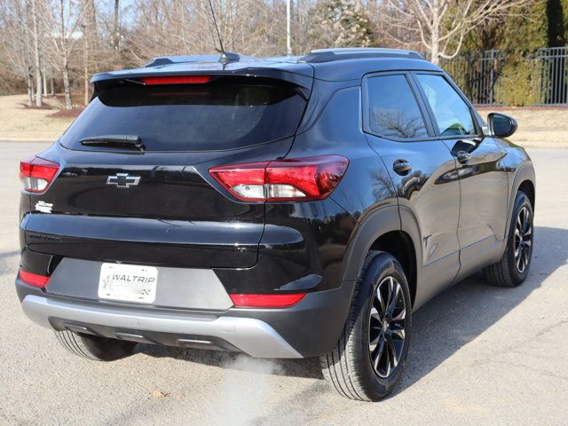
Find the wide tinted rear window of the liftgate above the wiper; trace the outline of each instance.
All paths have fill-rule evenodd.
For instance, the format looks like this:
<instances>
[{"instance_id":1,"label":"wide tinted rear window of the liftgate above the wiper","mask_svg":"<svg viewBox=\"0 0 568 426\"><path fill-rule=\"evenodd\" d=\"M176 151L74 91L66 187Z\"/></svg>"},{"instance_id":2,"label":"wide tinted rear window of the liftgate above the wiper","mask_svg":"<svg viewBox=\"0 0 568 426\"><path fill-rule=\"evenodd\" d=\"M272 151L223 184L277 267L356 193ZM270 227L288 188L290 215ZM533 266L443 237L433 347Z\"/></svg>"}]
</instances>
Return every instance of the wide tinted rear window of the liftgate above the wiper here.
<instances>
[{"instance_id":1,"label":"wide tinted rear window of the liftgate above the wiper","mask_svg":"<svg viewBox=\"0 0 568 426\"><path fill-rule=\"evenodd\" d=\"M273 80L272 80L273 82ZM61 138L74 149L83 138L130 135L146 151L241 148L294 135L306 101L296 87L258 79L220 78L207 84L107 89L91 101Z\"/></svg>"}]
</instances>

